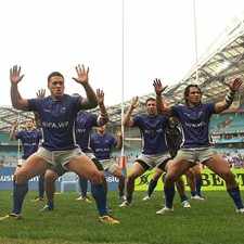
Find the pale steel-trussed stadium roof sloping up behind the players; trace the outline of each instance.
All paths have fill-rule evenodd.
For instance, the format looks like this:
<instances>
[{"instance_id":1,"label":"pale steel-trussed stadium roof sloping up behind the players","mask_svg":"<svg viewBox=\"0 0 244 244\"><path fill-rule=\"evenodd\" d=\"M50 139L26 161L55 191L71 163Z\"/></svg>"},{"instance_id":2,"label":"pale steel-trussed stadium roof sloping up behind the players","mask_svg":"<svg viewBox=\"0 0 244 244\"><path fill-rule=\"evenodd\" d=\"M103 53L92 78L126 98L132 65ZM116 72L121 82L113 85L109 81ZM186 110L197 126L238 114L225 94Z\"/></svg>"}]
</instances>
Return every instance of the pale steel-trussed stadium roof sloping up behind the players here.
<instances>
[{"instance_id":1,"label":"pale steel-trussed stadium roof sloping up behind the players","mask_svg":"<svg viewBox=\"0 0 244 244\"><path fill-rule=\"evenodd\" d=\"M244 80L244 18L231 23L231 27L226 28L187 76L164 91L164 97L169 104L181 103L184 88L190 84L197 84L203 91L204 101L216 101L226 94L227 84L235 77ZM140 98L140 106L136 113L142 112L143 105L150 97L154 97L154 93ZM124 107L129 104L130 101L126 101ZM92 112L99 113L99 108L92 110ZM111 123L119 125L121 104L108 106L107 112ZM33 117L33 113L1 106L0 131L8 131L15 120L18 119L22 123L28 117Z\"/></svg>"}]
</instances>

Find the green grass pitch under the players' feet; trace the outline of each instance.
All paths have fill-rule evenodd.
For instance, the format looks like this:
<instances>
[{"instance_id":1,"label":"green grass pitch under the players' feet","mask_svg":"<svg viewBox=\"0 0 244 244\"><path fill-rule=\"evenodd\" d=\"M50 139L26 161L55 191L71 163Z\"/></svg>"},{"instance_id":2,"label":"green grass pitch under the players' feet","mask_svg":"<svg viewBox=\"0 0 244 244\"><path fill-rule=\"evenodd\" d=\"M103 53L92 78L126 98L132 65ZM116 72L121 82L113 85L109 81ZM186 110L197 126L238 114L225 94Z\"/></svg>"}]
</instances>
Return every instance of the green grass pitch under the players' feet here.
<instances>
[{"instance_id":1,"label":"green grass pitch under the players' feet","mask_svg":"<svg viewBox=\"0 0 244 244\"><path fill-rule=\"evenodd\" d=\"M77 194L55 196L55 210L40 213L43 203L33 203L35 192L25 201L23 220L0 221L1 244L243 244L244 215L237 215L224 191L207 192L206 201L191 201L184 209L177 197L175 211L165 216L155 213L163 207L162 192L142 202L144 192L136 192L133 205L118 207L115 192L110 193L110 206L120 224L98 221L94 203L75 201ZM0 193L0 215L11 208L11 193Z\"/></svg>"}]
</instances>

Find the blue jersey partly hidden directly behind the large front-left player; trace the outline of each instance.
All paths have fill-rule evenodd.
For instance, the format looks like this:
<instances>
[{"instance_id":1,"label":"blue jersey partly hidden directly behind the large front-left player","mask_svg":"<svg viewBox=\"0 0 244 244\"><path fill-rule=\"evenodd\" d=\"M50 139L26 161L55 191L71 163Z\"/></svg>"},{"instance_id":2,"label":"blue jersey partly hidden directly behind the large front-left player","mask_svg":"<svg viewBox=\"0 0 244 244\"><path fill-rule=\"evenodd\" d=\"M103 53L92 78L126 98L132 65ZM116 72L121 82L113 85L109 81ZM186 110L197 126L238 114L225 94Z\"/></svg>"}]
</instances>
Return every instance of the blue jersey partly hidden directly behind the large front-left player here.
<instances>
[{"instance_id":1,"label":"blue jersey partly hidden directly behind the large front-left player","mask_svg":"<svg viewBox=\"0 0 244 244\"><path fill-rule=\"evenodd\" d=\"M104 123L98 120L98 116L84 111L80 111L75 121L76 142L86 153L90 152L90 134L92 127L103 126Z\"/></svg>"}]
</instances>

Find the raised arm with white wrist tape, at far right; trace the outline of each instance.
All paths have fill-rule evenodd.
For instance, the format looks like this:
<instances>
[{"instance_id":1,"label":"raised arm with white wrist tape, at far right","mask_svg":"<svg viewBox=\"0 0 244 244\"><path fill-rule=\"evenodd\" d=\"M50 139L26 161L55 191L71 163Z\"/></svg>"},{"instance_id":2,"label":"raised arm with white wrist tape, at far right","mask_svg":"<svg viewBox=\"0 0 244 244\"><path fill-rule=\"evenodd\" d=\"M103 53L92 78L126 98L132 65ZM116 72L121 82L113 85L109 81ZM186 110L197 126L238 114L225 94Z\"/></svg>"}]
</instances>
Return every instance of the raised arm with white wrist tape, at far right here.
<instances>
[{"instance_id":1,"label":"raised arm with white wrist tape, at far right","mask_svg":"<svg viewBox=\"0 0 244 244\"><path fill-rule=\"evenodd\" d=\"M230 91L228 91L226 98L223 101L218 102L215 104L215 113L219 114L222 111L227 110L230 107L234 100L234 94L236 91L239 91L240 87L242 86L242 80L240 78L234 79L230 85Z\"/></svg>"}]
</instances>

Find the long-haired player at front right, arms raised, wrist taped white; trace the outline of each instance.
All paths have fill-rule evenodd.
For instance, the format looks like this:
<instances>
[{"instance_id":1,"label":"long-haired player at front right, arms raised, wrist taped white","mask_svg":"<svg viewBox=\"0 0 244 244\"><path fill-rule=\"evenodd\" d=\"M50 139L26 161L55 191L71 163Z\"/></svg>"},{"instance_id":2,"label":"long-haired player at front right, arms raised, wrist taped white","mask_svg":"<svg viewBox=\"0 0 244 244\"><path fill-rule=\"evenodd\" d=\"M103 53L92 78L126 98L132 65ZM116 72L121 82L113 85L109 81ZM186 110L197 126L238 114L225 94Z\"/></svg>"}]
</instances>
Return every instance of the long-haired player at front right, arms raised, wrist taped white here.
<instances>
[{"instance_id":1,"label":"long-haired player at front right, arms raised, wrist taped white","mask_svg":"<svg viewBox=\"0 0 244 244\"><path fill-rule=\"evenodd\" d=\"M204 164L226 181L229 195L234 202L236 213L244 214L244 206L240 189L231 172L228 163L218 155L209 142L209 120L213 114L221 113L233 102L234 94L242 85L240 78L235 78L229 85L229 91L223 101L202 103L202 91L197 85L189 85L184 90L185 104L165 106L162 103L164 87L159 79L156 80L155 91L157 97L157 108L159 114L167 114L178 118L183 132L183 143L172 159L165 176L165 207L156 214L172 211L174 192L170 189L174 182L196 162Z\"/></svg>"}]
</instances>

